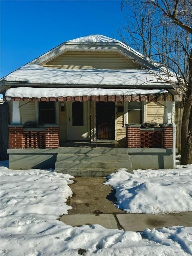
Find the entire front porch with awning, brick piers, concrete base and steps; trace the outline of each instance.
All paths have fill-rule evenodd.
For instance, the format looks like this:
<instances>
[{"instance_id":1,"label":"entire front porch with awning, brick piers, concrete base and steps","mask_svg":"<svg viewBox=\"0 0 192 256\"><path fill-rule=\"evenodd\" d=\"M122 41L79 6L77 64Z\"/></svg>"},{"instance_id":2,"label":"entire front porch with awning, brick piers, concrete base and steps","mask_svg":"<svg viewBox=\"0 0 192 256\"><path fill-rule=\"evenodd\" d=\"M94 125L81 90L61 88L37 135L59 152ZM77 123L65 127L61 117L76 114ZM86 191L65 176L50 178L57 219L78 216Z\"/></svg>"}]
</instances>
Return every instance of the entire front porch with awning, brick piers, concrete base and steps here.
<instances>
[{"instance_id":1,"label":"entire front porch with awning, brick piers, concrete base and steps","mask_svg":"<svg viewBox=\"0 0 192 256\"><path fill-rule=\"evenodd\" d=\"M13 94L9 90L6 92L6 100L13 104L8 153L10 163L16 165L17 162L18 169L33 165L30 168L49 166L67 172L71 168L87 169L89 166L110 171L118 168L168 169L175 166L174 111L175 101L181 101L181 95L175 90L133 92L121 89L124 94L120 95L118 89L98 89L99 95L92 95L92 90L89 92L82 88L81 93L86 91L88 95L67 96L70 88L62 88L54 97L40 97L44 93L42 89L46 89L41 88L38 98L32 97L36 96L35 93L31 93L31 97L21 97L20 88L13 89ZM35 89L39 88L31 88L31 91ZM146 94L141 94L144 92ZM47 106L54 104L54 123L39 122L44 113L38 110L41 102ZM147 123L146 104L149 102L158 102L163 107L161 124ZM29 103L36 106L37 121L21 123L20 108ZM108 160L105 161L103 154Z\"/></svg>"}]
</instances>

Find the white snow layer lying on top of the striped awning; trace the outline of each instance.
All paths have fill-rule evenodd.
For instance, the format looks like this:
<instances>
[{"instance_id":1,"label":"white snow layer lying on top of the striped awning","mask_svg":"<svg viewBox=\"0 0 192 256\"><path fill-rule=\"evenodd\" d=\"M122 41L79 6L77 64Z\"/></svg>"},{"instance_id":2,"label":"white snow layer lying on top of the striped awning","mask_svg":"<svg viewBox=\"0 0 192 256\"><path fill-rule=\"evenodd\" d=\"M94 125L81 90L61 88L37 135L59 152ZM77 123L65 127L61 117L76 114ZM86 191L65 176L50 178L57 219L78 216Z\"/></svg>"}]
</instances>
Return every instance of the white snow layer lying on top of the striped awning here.
<instances>
[{"instance_id":1,"label":"white snow layer lying on top of the striped awning","mask_svg":"<svg viewBox=\"0 0 192 256\"><path fill-rule=\"evenodd\" d=\"M156 93L167 93L167 90L141 90L141 89L101 89L101 88L33 88L17 87L6 91L7 97L19 98L49 98L49 97L67 97L67 96L91 96L91 95L147 95Z\"/></svg>"}]
</instances>

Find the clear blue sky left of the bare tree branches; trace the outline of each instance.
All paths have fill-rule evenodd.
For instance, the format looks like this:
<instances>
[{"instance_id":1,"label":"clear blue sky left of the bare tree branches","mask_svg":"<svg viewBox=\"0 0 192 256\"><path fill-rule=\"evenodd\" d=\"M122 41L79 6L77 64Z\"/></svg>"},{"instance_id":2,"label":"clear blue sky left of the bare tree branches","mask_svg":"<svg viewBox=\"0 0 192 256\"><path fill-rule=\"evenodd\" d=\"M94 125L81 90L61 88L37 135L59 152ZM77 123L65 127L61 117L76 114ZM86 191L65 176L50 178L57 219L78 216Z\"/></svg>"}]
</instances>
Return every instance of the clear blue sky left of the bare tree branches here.
<instances>
[{"instance_id":1,"label":"clear blue sky left of the bare tree branches","mask_svg":"<svg viewBox=\"0 0 192 256\"><path fill-rule=\"evenodd\" d=\"M119 39L124 16L121 1L1 0L1 77L70 39Z\"/></svg>"}]
</instances>

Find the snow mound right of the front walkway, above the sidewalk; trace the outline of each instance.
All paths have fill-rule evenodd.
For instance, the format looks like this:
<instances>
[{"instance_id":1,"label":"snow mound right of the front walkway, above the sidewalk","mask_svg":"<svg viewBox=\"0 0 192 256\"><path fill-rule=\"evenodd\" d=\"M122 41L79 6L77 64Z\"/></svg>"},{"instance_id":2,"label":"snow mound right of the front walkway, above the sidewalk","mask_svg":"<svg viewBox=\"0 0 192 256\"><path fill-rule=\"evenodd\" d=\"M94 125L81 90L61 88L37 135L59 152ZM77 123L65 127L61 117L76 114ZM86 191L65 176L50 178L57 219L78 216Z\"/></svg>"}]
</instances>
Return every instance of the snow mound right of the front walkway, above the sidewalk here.
<instances>
[{"instance_id":1,"label":"snow mound right of the front walkway, above the sidewalk","mask_svg":"<svg viewBox=\"0 0 192 256\"><path fill-rule=\"evenodd\" d=\"M169 170L120 169L110 174L117 207L128 213L170 213L192 211L192 165Z\"/></svg>"}]
</instances>

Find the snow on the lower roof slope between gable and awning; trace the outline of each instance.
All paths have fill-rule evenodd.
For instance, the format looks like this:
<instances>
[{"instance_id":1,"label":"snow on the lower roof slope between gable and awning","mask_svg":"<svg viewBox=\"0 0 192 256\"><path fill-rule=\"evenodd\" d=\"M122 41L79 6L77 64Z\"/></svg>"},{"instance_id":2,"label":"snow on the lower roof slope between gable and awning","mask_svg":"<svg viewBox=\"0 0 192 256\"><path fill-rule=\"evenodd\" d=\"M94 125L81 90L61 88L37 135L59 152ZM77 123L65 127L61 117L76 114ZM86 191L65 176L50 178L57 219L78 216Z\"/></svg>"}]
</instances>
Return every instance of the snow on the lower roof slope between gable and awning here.
<instances>
[{"instance_id":1,"label":"snow on the lower roof slope between gable and awning","mask_svg":"<svg viewBox=\"0 0 192 256\"><path fill-rule=\"evenodd\" d=\"M170 85L176 77L159 70L132 69L53 69L36 64L25 65L10 73L5 81L63 85Z\"/></svg>"}]
</instances>

